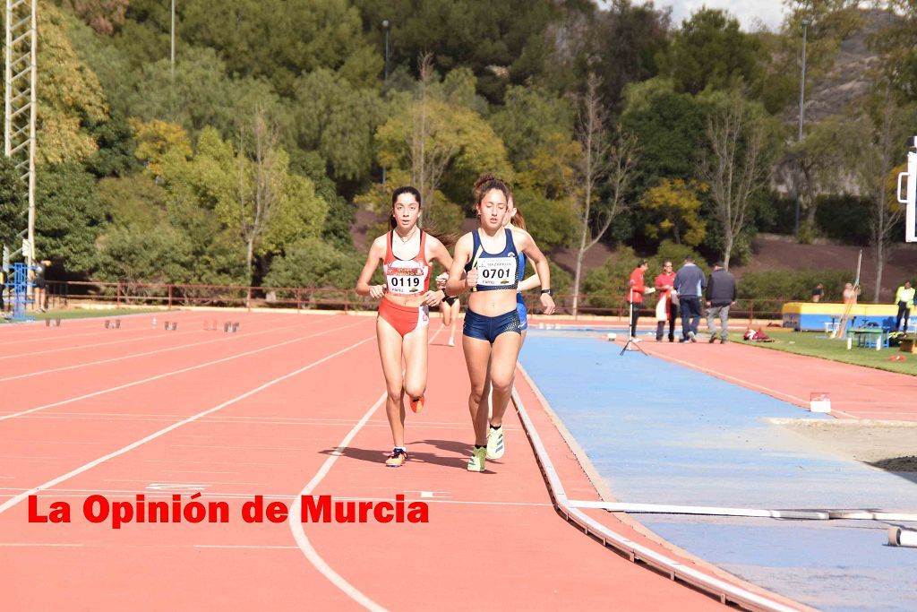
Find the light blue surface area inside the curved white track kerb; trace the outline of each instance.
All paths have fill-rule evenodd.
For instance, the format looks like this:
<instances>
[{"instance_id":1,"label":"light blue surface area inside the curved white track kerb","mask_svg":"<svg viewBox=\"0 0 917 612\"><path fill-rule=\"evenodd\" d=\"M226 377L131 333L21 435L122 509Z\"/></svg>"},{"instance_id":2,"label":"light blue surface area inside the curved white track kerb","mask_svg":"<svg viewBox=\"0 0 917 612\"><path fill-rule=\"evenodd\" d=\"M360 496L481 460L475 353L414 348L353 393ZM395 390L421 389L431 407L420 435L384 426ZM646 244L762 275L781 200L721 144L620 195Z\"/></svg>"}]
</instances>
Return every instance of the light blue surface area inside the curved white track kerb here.
<instances>
[{"instance_id":1,"label":"light blue surface area inside the curved white track kerb","mask_svg":"<svg viewBox=\"0 0 917 612\"><path fill-rule=\"evenodd\" d=\"M696 350L708 347L686 346L684 359ZM807 448L766 420L823 417L620 351L604 339L532 330L520 357L618 501L917 512L914 483ZM809 606L917 610L917 550L888 546L888 523L635 517L702 559Z\"/></svg>"}]
</instances>

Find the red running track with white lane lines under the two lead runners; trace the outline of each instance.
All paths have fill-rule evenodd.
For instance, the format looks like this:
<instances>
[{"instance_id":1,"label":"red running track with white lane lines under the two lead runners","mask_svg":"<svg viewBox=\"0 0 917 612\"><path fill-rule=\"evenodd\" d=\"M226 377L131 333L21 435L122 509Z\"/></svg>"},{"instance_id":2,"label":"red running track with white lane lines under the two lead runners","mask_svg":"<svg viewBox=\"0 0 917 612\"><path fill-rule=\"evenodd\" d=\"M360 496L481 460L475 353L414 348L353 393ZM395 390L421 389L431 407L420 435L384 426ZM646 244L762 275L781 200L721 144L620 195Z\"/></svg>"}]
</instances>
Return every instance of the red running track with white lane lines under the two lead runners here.
<instances>
[{"instance_id":1,"label":"red running track with white lane lines under the two lead runners","mask_svg":"<svg viewBox=\"0 0 917 612\"><path fill-rule=\"evenodd\" d=\"M3 374L4 608L721 607L558 517L514 417L503 461L468 473L460 349L432 338L427 407L408 421L412 459L392 470L382 464L391 437L372 317L233 315L238 334L204 331L204 318L171 316L175 332L127 317L118 330L68 321L0 335L5 355L41 352L7 360ZM539 431L549 429L539 418ZM542 435L565 462L569 490L595 497L557 432ZM253 495L290 504L303 491L403 494L428 503L429 523L239 519ZM93 494L187 501L195 492L226 501L230 522L116 530L81 512ZM72 523L29 523L30 493L42 511L70 502Z\"/></svg>"}]
</instances>

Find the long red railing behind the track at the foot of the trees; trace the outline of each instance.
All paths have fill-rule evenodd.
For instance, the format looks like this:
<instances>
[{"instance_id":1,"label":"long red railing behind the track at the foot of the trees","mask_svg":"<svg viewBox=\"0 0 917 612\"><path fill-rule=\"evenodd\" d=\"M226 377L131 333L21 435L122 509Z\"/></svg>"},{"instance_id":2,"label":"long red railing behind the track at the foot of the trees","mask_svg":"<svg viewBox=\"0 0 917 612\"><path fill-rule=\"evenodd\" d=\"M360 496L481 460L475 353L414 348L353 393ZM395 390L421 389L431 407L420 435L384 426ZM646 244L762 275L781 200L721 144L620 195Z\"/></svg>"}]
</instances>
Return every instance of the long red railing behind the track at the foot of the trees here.
<instances>
[{"instance_id":1,"label":"long red railing behind the track at the foot of the trees","mask_svg":"<svg viewBox=\"0 0 917 612\"><path fill-rule=\"evenodd\" d=\"M305 287L249 287L216 284L94 283L49 282L49 306L72 306L81 303L114 306L235 306L247 308L296 308L297 310L373 310L376 300L357 295L352 289L314 289ZM624 295L624 290L615 292ZM555 295L558 314L573 314L573 295ZM779 319L785 300L740 299L733 306L734 318ZM538 295L525 295L529 310L537 312ZM656 300L649 298L644 317L651 317ZM581 316L626 317L627 303L609 295L580 294Z\"/></svg>"}]
</instances>

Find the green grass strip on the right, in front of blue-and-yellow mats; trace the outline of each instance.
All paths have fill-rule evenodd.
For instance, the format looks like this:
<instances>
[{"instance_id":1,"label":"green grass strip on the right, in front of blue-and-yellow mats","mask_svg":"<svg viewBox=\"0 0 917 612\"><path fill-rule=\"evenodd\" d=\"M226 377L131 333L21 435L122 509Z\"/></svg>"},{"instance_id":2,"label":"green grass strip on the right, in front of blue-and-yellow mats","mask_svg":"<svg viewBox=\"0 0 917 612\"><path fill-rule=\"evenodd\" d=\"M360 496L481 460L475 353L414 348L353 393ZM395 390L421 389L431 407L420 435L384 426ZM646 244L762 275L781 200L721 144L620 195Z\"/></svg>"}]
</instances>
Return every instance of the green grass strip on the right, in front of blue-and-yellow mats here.
<instances>
[{"instance_id":1,"label":"green grass strip on the right, in front of blue-and-yellow mats","mask_svg":"<svg viewBox=\"0 0 917 612\"><path fill-rule=\"evenodd\" d=\"M911 374L917 376L917 353L911 354L901 352L898 347L890 349L861 349L856 347L856 343L850 351L847 351L846 340L830 339L823 332L817 331L789 331L782 329L764 329L773 342L746 342L739 339L738 341L749 346L769 349L771 351L786 351L796 353L797 355L809 355L810 357L819 357L821 359L830 359L834 362L853 363L854 365L863 365L867 368L876 368L878 370L888 370L902 374ZM889 357L900 355L906 359L904 362L889 361Z\"/></svg>"}]
</instances>

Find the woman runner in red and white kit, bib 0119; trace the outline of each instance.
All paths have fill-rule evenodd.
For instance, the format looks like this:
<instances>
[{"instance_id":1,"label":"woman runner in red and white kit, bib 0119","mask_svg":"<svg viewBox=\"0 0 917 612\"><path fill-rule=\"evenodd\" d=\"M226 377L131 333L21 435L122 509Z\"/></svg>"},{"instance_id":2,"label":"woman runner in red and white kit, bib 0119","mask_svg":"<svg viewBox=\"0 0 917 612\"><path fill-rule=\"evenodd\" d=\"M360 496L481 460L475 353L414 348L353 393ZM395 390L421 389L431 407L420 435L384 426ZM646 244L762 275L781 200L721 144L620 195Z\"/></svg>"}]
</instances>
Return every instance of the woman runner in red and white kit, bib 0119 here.
<instances>
[{"instance_id":1,"label":"woman runner in red and white kit, bib 0119","mask_svg":"<svg viewBox=\"0 0 917 612\"><path fill-rule=\"evenodd\" d=\"M400 467L408 458L404 447L404 394L414 412L424 408L429 309L446 297L441 289L430 291L430 261L439 261L446 269L452 265L443 242L418 227L420 213L420 193L414 187L395 190L389 219L392 231L373 240L357 282L359 295L381 299L376 338L388 389L385 413L394 441L394 450L385 461L389 467ZM385 282L370 285L380 263ZM442 276L439 280L445 280L445 274Z\"/></svg>"}]
</instances>

